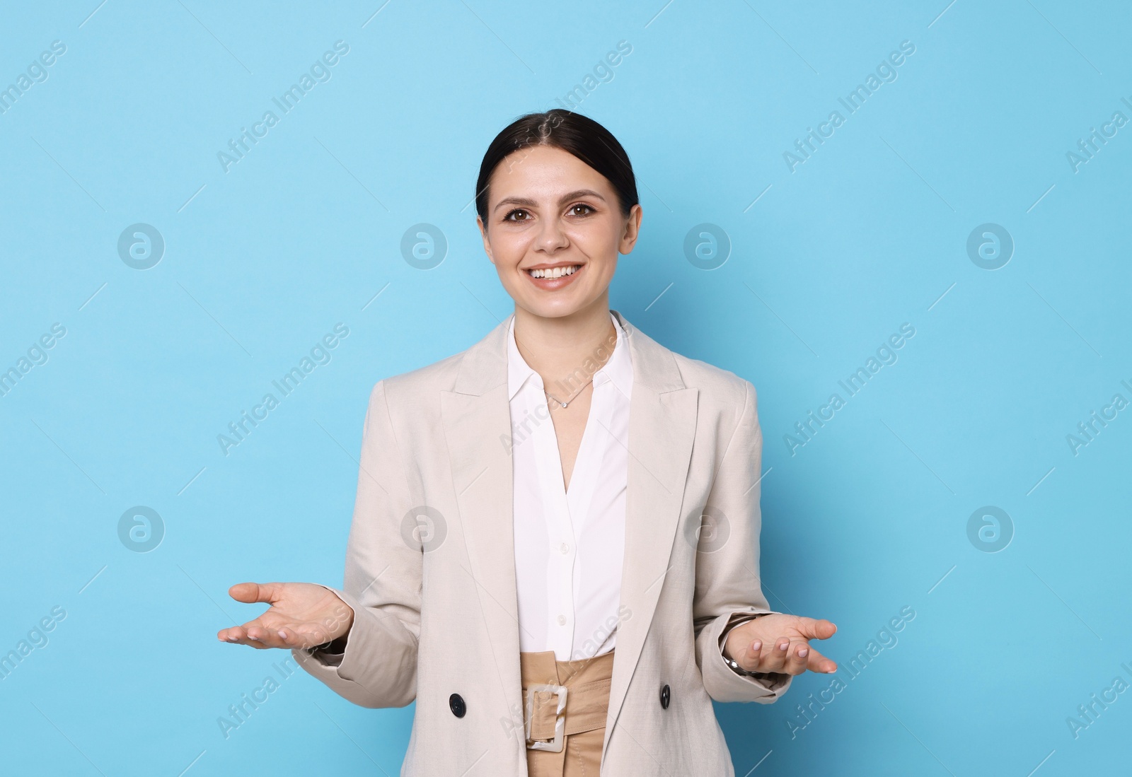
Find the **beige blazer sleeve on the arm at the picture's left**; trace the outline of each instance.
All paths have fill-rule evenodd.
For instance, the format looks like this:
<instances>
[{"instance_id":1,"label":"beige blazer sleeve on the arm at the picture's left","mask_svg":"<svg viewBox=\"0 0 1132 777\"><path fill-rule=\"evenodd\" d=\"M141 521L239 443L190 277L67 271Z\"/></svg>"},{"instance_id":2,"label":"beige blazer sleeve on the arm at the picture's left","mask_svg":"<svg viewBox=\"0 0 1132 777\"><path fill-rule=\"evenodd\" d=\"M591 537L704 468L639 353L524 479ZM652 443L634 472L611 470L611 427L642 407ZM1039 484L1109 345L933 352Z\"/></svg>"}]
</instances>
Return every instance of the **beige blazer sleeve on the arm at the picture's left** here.
<instances>
[{"instance_id":1,"label":"beige blazer sleeve on the arm at the picture's left","mask_svg":"<svg viewBox=\"0 0 1132 777\"><path fill-rule=\"evenodd\" d=\"M325 586L354 613L345 649L291 654L355 705L404 707L417 696L423 549L384 381L370 394L359 464L343 586Z\"/></svg>"}]
</instances>

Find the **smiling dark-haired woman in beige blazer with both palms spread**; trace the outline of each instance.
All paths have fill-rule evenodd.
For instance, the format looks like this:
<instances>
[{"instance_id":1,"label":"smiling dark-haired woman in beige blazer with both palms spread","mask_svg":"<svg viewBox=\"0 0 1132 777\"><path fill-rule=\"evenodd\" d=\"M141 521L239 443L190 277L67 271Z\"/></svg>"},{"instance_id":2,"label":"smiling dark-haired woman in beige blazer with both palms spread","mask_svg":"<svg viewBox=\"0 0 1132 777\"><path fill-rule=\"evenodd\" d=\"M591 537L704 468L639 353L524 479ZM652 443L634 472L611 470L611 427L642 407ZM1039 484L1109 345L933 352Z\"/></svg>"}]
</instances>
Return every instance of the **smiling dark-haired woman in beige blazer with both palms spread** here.
<instances>
[{"instance_id":1,"label":"smiling dark-haired woman in beige blazer with both palms spread","mask_svg":"<svg viewBox=\"0 0 1132 777\"><path fill-rule=\"evenodd\" d=\"M514 313L374 388L343 589L235 585L272 606L217 637L415 700L403 775L734 775L711 700L837 670L760 587L754 387L609 309L642 211L597 122L516 120L475 205Z\"/></svg>"}]
</instances>

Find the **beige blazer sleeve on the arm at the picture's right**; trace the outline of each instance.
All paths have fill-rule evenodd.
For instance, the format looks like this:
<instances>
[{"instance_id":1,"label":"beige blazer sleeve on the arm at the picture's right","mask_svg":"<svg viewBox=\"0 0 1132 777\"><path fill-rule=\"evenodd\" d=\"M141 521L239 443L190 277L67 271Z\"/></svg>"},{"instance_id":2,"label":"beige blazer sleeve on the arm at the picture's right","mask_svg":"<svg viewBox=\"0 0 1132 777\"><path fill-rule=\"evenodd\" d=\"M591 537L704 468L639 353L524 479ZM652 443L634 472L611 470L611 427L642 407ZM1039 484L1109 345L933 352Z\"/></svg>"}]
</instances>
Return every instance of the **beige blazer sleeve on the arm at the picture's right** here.
<instances>
[{"instance_id":1,"label":"beige blazer sleeve on the arm at the picture's right","mask_svg":"<svg viewBox=\"0 0 1132 777\"><path fill-rule=\"evenodd\" d=\"M774 612L763 596L758 572L763 434L755 387L747 380L744 385L743 411L707 495L696 553L696 664L712 699L769 703L786 692L792 675L774 672L755 679L737 674L723 663L721 646L732 620Z\"/></svg>"}]
</instances>

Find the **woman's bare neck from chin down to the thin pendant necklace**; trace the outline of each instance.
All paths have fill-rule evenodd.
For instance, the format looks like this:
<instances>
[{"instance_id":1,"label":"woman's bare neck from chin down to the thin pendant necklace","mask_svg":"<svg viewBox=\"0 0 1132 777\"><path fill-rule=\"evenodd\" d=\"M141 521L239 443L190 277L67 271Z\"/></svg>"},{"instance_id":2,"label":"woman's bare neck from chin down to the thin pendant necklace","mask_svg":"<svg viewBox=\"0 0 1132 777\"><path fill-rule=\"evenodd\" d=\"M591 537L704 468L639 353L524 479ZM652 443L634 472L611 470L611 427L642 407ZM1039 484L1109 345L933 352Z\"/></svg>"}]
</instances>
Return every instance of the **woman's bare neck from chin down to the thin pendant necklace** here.
<instances>
[{"instance_id":1,"label":"woman's bare neck from chin down to the thin pendant necklace","mask_svg":"<svg viewBox=\"0 0 1132 777\"><path fill-rule=\"evenodd\" d=\"M569 316L546 318L515 308L515 344L559 399L574 396L609 361L617 330L609 317L609 297Z\"/></svg>"}]
</instances>

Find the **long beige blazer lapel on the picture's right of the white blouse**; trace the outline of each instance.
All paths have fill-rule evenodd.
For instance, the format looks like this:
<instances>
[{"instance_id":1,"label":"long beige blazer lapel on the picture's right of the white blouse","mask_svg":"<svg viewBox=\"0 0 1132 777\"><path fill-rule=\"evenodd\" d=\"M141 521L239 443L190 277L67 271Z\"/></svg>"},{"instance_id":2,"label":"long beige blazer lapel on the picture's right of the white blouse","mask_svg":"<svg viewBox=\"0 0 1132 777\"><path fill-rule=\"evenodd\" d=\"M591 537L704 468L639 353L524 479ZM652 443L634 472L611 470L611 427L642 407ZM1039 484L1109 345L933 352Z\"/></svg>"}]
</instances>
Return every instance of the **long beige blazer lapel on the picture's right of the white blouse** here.
<instances>
[{"instance_id":1,"label":"long beige blazer lapel on the picture's right of the white blouse","mask_svg":"<svg viewBox=\"0 0 1132 777\"><path fill-rule=\"evenodd\" d=\"M700 395L698 389L684 385L671 351L633 327L619 312L612 312L628 335L633 397L620 602L627 612L617 627L602 753L664 585L692 459Z\"/></svg>"}]
</instances>

